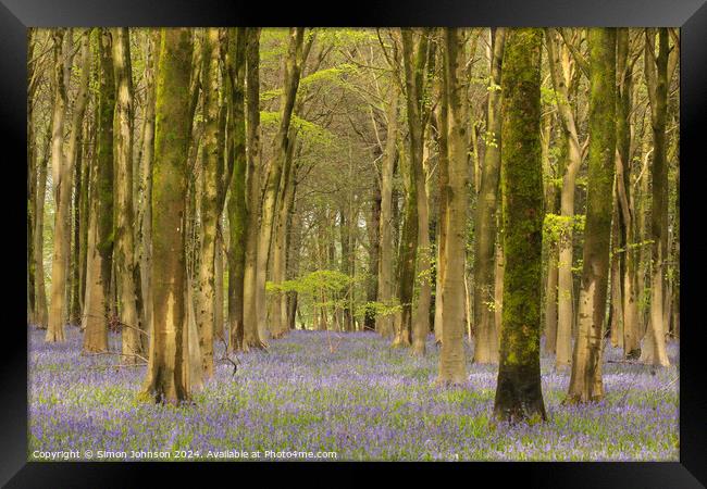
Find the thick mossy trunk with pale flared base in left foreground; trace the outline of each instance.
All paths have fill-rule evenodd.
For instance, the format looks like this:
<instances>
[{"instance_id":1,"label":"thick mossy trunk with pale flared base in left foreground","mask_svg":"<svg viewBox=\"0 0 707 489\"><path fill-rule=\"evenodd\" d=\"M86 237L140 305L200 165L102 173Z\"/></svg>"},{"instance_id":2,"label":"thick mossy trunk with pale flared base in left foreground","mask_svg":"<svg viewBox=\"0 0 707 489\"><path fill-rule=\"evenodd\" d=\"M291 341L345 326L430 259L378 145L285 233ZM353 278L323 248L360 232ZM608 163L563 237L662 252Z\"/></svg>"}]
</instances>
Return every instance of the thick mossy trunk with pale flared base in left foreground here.
<instances>
[{"instance_id":1,"label":"thick mossy trunk with pale flared base in left foreground","mask_svg":"<svg viewBox=\"0 0 707 489\"><path fill-rule=\"evenodd\" d=\"M190 396L185 375L185 220L191 29L162 29L152 167L152 336L146 397L176 404Z\"/></svg>"}]
</instances>

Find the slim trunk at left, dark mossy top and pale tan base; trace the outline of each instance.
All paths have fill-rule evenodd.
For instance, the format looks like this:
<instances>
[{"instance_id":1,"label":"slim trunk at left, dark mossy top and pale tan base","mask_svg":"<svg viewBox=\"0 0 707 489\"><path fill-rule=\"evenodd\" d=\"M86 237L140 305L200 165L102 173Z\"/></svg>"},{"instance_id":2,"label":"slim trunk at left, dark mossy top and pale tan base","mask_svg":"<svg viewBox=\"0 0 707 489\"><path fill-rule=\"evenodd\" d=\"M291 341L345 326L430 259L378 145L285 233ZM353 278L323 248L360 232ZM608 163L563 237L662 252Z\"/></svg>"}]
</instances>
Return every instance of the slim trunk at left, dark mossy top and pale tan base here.
<instances>
[{"instance_id":1,"label":"slim trunk at left, dark mossy top and pale tan base","mask_svg":"<svg viewBox=\"0 0 707 489\"><path fill-rule=\"evenodd\" d=\"M110 284L113 256L113 115L115 85L111 33L97 32L99 59L99 96L96 127L96 155L92 161L91 204L89 216L84 299L84 350L108 350Z\"/></svg>"}]
</instances>

